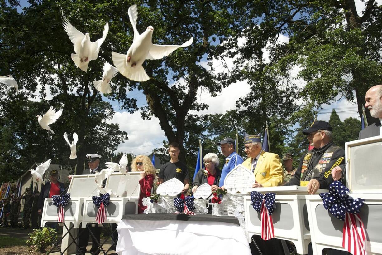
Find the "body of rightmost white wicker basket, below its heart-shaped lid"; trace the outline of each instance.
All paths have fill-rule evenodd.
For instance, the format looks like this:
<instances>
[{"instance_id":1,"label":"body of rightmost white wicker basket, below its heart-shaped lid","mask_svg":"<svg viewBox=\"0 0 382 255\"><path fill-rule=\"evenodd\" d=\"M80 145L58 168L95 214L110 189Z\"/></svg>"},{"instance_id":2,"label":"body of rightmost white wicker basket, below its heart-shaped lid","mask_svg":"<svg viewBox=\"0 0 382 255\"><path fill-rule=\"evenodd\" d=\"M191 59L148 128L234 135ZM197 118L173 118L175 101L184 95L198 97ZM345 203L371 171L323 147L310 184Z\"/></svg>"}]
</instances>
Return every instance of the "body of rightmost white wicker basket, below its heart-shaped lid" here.
<instances>
[{"instance_id":1,"label":"body of rightmost white wicker basket, below its heart-shaped lid","mask_svg":"<svg viewBox=\"0 0 382 255\"><path fill-rule=\"evenodd\" d=\"M211 203L212 196L208 199L208 204L212 204L212 215L214 216L235 216L235 212L244 214L244 196L248 194L226 194L222 202Z\"/></svg>"}]
</instances>

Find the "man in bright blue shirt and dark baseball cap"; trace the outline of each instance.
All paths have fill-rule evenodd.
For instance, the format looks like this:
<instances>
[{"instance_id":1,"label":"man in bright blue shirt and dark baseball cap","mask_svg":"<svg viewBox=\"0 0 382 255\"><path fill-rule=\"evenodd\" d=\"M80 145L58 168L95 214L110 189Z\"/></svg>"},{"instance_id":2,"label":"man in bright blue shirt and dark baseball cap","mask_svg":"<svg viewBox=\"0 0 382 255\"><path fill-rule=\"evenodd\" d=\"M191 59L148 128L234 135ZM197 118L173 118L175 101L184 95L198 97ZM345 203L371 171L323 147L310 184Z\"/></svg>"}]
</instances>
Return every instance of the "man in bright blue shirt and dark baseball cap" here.
<instances>
[{"instance_id":1,"label":"man in bright blue shirt and dark baseball cap","mask_svg":"<svg viewBox=\"0 0 382 255\"><path fill-rule=\"evenodd\" d=\"M235 168L237 165L243 163L243 158L240 157L239 154L235 152L235 141L233 141L230 137L225 137L222 141L217 142L217 145L220 145L220 149L222 150L222 154L226 157L225 164L222 168L222 174L220 175L220 183L219 186L224 188L224 179L227 174ZM211 190L215 191L217 189L217 185L212 185Z\"/></svg>"}]
</instances>

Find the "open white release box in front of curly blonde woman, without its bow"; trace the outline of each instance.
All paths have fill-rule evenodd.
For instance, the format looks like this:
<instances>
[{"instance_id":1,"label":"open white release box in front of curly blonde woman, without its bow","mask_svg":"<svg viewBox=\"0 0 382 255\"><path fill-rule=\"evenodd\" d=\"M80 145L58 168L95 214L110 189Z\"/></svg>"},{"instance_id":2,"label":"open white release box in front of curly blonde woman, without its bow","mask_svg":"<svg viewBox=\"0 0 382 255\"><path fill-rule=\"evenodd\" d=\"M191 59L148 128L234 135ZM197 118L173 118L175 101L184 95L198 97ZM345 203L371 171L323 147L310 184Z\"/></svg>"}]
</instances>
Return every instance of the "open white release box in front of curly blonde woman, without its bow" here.
<instances>
[{"instance_id":1,"label":"open white release box in front of curly blonde woman, without its bow","mask_svg":"<svg viewBox=\"0 0 382 255\"><path fill-rule=\"evenodd\" d=\"M126 175L115 172L107 178L105 188L110 188L116 197L110 195L104 223L119 223L123 215L138 213L138 199L141 190L139 179L140 172L128 172ZM84 204L83 228L87 223L96 222L95 216L98 211L91 197L85 198Z\"/></svg>"}]
</instances>

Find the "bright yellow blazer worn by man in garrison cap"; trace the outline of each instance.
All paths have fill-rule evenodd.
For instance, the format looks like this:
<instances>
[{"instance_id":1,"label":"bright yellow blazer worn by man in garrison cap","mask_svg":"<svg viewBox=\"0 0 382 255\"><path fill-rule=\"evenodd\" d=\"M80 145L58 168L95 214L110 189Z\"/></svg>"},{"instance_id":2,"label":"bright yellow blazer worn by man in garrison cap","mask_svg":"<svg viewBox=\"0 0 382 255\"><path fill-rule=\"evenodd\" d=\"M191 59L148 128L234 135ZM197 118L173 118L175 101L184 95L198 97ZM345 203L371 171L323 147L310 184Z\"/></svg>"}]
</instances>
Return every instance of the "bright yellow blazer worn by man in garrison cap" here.
<instances>
[{"instance_id":1,"label":"bright yellow blazer worn by man in garrison cap","mask_svg":"<svg viewBox=\"0 0 382 255\"><path fill-rule=\"evenodd\" d=\"M243 162L243 166L251 170L252 158ZM252 171L252 170L251 170ZM255 180L263 187L280 186L284 180L284 173L280 157L277 154L260 152L259 160L254 171Z\"/></svg>"}]
</instances>

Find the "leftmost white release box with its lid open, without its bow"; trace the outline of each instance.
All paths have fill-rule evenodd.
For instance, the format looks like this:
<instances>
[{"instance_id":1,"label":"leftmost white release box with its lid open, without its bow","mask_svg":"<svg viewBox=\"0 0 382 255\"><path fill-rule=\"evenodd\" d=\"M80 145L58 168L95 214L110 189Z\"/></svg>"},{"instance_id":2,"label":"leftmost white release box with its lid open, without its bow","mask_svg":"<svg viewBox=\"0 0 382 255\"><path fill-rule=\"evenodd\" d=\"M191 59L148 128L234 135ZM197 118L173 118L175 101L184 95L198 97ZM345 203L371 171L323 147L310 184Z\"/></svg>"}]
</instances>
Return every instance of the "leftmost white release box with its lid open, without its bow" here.
<instances>
[{"instance_id":1,"label":"leftmost white release box with its lid open, without its bow","mask_svg":"<svg viewBox=\"0 0 382 255\"><path fill-rule=\"evenodd\" d=\"M74 227L79 227L82 222L84 211L84 198L99 193L94 182L94 175L73 175L67 193L70 193L70 201L65 206L65 222L72 222ZM42 210L41 227L47 222L57 222L58 207L53 205L52 198L45 198Z\"/></svg>"}]
</instances>

